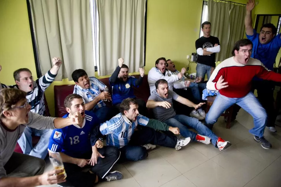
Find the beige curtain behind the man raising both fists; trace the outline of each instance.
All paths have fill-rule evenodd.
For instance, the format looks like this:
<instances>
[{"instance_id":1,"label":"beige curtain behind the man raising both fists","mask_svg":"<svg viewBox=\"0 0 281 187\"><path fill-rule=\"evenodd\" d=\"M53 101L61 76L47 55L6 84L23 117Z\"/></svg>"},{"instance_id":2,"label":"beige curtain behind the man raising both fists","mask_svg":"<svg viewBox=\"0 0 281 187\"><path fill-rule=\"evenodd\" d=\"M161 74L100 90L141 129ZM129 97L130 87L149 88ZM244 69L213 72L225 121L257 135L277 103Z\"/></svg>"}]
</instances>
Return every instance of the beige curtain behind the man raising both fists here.
<instances>
[{"instance_id":1,"label":"beige curtain behind the man raising both fists","mask_svg":"<svg viewBox=\"0 0 281 187\"><path fill-rule=\"evenodd\" d=\"M110 75L124 58L129 72L144 65L146 0L96 0L99 19L98 75Z\"/></svg>"}]
</instances>

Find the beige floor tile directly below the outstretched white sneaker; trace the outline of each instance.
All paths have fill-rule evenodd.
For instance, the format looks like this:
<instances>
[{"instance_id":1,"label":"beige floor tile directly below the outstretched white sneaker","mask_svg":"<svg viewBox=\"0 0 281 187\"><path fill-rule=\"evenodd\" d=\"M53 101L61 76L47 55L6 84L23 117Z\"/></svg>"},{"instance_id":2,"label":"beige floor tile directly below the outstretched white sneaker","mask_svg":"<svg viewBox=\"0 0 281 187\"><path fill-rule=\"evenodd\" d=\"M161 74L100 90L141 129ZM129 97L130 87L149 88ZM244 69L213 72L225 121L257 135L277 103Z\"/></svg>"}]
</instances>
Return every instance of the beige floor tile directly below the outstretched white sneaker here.
<instances>
[{"instance_id":1,"label":"beige floor tile directly below the outstretched white sneaker","mask_svg":"<svg viewBox=\"0 0 281 187\"><path fill-rule=\"evenodd\" d=\"M191 142L190 144L202 143ZM171 150L170 148L164 148L159 150L158 153L172 166L174 166L180 173L185 173L188 170L191 170L192 168L208 160L207 157L205 157L192 147L187 147L178 151Z\"/></svg>"}]
</instances>

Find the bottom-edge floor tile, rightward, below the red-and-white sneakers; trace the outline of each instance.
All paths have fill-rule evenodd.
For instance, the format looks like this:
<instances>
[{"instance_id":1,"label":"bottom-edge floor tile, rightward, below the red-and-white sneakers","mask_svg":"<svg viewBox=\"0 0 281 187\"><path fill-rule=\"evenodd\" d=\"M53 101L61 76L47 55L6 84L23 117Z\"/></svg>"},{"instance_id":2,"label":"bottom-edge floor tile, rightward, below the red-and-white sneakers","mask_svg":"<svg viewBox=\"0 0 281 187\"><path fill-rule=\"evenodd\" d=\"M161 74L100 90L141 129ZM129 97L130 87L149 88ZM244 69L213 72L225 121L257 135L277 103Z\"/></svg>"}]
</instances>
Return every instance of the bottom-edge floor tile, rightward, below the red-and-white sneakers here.
<instances>
[{"instance_id":1,"label":"bottom-edge floor tile, rightward, below the red-and-white sneakers","mask_svg":"<svg viewBox=\"0 0 281 187\"><path fill-rule=\"evenodd\" d=\"M248 182L212 160L204 162L183 175L197 187L242 187Z\"/></svg>"}]
</instances>

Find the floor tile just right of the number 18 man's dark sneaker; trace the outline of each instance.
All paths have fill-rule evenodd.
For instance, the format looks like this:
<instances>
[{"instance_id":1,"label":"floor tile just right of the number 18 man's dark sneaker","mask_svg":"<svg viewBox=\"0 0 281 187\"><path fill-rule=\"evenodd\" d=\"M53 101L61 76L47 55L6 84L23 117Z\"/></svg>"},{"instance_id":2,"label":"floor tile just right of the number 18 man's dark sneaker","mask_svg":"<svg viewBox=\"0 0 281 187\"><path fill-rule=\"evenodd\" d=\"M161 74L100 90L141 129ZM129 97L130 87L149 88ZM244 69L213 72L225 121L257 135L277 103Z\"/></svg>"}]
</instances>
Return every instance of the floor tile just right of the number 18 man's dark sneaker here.
<instances>
[{"instance_id":1,"label":"floor tile just right of the number 18 man's dark sneaker","mask_svg":"<svg viewBox=\"0 0 281 187\"><path fill-rule=\"evenodd\" d=\"M145 160L129 162L124 166L142 187L161 186L181 175L159 152L149 154Z\"/></svg>"}]
</instances>

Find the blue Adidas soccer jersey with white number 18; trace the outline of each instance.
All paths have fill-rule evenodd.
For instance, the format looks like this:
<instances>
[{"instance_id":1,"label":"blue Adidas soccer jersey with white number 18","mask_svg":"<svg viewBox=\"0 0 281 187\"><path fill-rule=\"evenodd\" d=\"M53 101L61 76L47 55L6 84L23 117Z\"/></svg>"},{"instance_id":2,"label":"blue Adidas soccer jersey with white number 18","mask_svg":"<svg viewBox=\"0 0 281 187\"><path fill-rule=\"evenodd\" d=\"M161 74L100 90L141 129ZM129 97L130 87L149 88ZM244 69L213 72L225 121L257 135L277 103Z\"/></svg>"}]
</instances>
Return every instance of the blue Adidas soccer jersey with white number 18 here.
<instances>
[{"instance_id":1,"label":"blue Adidas soccer jersey with white number 18","mask_svg":"<svg viewBox=\"0 0 281 187\"><path fill-rule=\"evenodd\" d=\"M69 114L63 116L67 118ZM82 127L70 125L61 129L54 129L49 141L50 152L63 152L74 158L92 151L90 142L91 130L99 125L98 117L89 111L85 111L85 119Z\"/></svg>"}]
</instances>

